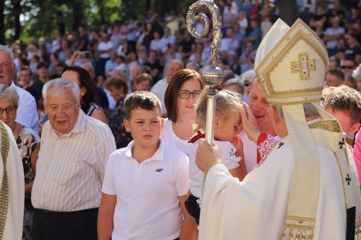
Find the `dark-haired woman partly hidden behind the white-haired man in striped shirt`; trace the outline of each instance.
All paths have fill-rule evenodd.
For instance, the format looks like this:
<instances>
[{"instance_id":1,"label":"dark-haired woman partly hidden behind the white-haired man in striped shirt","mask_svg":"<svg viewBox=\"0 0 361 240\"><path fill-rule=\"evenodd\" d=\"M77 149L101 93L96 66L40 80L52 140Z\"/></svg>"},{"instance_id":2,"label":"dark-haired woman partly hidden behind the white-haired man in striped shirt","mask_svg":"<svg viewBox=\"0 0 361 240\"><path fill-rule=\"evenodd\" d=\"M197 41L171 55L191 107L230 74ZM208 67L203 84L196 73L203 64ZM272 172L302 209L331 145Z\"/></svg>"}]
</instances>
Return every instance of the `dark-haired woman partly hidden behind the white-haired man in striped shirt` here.
<instances>
[{"instance_id":1,"label":"dark-haired woman partly hidden behind the white-haired man in striped shirt","mask_svg":"<svg viewBox=\"0 0 361 240\"><path fill-rule=\"evenodd\" d=\"M68 66L62 70L62 78L73 80L81 90L81 110L90 117L107 123L103 108L96 103L95 86L90 74L82 67Z\"/></svg>"}]
</instances>

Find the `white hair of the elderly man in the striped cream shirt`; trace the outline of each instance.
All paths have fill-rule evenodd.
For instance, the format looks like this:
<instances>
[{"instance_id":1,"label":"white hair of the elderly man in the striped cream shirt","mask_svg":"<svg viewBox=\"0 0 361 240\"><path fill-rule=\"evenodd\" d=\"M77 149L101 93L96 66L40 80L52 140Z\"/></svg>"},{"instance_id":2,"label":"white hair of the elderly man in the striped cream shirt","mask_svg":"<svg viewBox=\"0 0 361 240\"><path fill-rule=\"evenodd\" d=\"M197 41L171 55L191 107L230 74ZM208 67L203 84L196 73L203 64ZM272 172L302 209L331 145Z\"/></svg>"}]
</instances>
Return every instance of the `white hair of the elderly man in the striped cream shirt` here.
<instances>
[{"instance_id":1,"label":"white hair of the elderly man in the striped cream shirt","mask_svg":"<svg viewBox=\"0 0 361 240\"><path fill-rule=\"evenodd\" d=\"M76 99L76 105L81 101L80 99L80 90L78 85L73 80L68 80L65 78L56 78L45 83L42 87L42 96L44 97L44 103L47 103L48 95L49 96L59 96L62 94L72 93Z\"/></svg>"}]
</instances>

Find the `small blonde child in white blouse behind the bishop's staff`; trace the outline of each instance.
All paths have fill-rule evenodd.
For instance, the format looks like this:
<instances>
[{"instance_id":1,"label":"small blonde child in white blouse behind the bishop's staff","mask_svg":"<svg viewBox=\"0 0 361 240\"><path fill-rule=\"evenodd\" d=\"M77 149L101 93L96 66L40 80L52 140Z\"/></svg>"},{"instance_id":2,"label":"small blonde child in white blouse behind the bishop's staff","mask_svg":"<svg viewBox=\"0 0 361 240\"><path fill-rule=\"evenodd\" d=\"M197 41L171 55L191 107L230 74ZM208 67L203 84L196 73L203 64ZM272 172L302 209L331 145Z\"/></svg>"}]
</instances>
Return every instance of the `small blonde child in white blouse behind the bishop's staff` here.
<instances>
[{"instance_id":1,"label":"small blonde child in white blouse behind the bishop's staff","mask_svg":"<svg viewBox=\"0 0 361 240\"><path fill-rule=\"evenodd\" d=\"M193 122L193 129L196 135L190 139L190 196L185 201L185 206L190 215L185 216L183 232L188 232L187 239L196 239L198 232L196 224L199 225L199 214L201 207L201 191L203 172L198 169L195 163L196 149L198 148L197 140L204 138L205 117L207 112L207 94L209 87L203 89L199 101L196 103L196 119ZM242 140L239 137L242 130L242 120L240 117L240 109L242 108L242 96L237 92L223 90L215 95L215 123L214 136L215 142L221 149L222 160L228 167L230 173L242 180L244 174L240 169L240 161L242 157L237 150L242 153ZM234 144L234 145L233 145ZM195 222L194 222L195 220ZM196 224L195 224L196 223ZM187 228L187 230L185 229Z\"/></svg>"}]
</instances>

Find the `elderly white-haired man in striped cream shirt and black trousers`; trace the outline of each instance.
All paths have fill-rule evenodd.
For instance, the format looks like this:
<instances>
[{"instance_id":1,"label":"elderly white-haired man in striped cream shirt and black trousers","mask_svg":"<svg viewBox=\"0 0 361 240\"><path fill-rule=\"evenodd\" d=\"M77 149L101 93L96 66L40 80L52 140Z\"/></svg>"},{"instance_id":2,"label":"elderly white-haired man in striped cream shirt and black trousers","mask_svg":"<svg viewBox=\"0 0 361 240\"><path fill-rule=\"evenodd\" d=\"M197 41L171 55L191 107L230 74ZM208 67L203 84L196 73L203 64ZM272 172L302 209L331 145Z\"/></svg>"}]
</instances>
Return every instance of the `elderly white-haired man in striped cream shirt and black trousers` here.
<instances>
[{"instance_id":1,"label":"elderly white-haired man in striped cream shirt and black trousers","mask_svg":"<svg viewBox=\"0 0 361 240\"><path fill-rule=\"evenodd\" d=\"M34 239L97 239L96 221L110 128L80 109L79 87L57 78L43 87L49 121L42 128L31 202Z\"/></svg>"}]
</instances>

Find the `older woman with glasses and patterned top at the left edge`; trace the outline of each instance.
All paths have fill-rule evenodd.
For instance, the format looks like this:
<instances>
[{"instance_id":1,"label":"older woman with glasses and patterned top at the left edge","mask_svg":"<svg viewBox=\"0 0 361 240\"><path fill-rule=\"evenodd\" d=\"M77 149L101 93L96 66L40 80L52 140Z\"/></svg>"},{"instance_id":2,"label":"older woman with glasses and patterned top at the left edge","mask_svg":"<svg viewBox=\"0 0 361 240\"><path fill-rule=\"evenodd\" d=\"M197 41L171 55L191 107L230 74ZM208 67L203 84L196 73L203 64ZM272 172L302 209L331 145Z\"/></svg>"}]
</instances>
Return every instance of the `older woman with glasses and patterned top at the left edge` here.
<instances>
[{"instance_id":1,"label":"older woman with glasses and patterned top at the left edge","mask_svg":"<svg viewBox=\"0 0 361 240\"><path fill-rule=\"evenodd\" d=\"M35 163L40 147L40 137L30 128L26 128L15 121L18 106L19 95L15 88L0 84L0 120L12 130L24 166L25 206L22 239L32 239L33 205L31 205L31 189L35 178Z\"/></svg>"}]
</instances>

